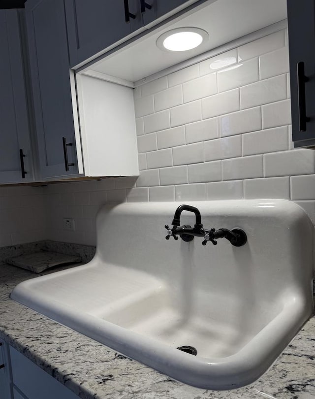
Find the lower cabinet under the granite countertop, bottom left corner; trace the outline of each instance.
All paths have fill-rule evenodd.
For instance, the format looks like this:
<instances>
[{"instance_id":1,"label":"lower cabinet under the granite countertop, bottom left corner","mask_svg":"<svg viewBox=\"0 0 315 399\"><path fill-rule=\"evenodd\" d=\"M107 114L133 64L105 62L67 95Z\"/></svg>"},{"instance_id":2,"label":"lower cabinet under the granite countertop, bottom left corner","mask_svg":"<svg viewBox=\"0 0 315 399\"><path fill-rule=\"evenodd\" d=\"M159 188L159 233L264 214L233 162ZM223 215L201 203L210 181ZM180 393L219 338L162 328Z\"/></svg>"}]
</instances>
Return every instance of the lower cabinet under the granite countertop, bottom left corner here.
<instances>
[{"instance_id":1,"label":"lower cabinet under the granite countertop, bottom left corner","mask_svg":"<svg viewBox=\"0 0 315 399\"><path fill-rule=\"evenodd\" d=\"M0 399L79 398L20 352L0 343Z\"/></svg>"}]
</instances>

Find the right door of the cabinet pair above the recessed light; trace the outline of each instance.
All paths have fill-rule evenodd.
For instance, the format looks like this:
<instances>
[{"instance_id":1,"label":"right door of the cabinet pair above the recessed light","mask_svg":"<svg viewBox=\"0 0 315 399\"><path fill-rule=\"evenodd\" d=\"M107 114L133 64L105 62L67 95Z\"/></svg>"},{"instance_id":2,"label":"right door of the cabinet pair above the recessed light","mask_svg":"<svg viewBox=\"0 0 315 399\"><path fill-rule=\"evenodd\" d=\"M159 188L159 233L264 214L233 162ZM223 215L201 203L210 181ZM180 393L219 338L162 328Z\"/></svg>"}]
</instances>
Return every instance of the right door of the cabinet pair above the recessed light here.
<instances>
[{"instance_id":1,"label":"right door of the cabinet pair above the recessed light","mask_svg":"<svg viewBox=\"0 0 315 399\"><path fill-rule=\"evenodd\" d=\"M187 3L187 0L138 0L142 3L141 11L143 12L143 23L144 25L149 24L150 22L154 21L155 19L163 16L169 11L172 11L174 8L179 7ZM151 6L148 8L144 5ZM189 1L189 4L191 1Z\"/></svg>"}]
</instances>

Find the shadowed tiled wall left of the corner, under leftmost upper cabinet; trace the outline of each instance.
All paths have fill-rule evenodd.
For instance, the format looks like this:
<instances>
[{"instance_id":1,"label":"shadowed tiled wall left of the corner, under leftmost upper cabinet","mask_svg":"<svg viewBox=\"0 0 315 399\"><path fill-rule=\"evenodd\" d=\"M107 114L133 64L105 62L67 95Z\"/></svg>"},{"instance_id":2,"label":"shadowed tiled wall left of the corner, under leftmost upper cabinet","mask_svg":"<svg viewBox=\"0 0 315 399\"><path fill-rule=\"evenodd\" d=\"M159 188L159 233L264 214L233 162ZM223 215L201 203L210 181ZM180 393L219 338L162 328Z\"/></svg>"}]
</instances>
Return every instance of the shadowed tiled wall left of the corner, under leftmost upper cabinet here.
<instances>
[{"instance_id":1,"label":"shadowed tiled wall left of the corner, under leftmost upper cabinet","mask_svg":"<svg viewBox=\"0 0 315 399\"><path fill-rule=\"evenodd\" d=\"M0 247L46 238L43 187L0 187Z\"/></svg>"}]
</instances>

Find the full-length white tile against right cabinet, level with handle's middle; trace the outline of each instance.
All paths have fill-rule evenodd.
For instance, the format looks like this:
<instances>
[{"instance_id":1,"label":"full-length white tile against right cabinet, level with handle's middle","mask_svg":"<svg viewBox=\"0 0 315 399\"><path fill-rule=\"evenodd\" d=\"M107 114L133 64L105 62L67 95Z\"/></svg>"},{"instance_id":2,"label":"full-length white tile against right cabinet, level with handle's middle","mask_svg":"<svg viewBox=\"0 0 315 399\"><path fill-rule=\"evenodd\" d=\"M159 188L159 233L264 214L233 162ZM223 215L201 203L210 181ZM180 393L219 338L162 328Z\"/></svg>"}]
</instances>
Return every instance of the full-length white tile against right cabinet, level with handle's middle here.
<instances>
[{"instance_id":1,"label":"full-length white tile against right cabinet, level with handle's middle","mask_svg":"<svg viewBox=\"0 0 315 399\"><path fill-rule=\"evenodd\" d=\"M261 80L240 88L241 108L286 99L286 75Z\"/></svg>"}]
</instances>

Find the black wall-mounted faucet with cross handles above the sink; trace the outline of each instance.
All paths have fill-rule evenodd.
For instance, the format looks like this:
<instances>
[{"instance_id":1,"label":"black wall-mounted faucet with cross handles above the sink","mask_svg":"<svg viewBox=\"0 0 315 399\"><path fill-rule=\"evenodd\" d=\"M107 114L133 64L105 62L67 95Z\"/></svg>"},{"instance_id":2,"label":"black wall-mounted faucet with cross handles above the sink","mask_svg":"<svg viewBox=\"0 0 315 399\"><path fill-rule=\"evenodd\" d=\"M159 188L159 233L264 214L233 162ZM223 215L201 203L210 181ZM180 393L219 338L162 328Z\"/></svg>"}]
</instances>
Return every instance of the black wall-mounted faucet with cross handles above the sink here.
<instances>
[{"instance_id":1,"label":"black wall-mounted faucet with cross handles above the sink","mask_svg":"<svg viewBox=\"0 0 315 399\"><path fill-rule=\"evenodd\" d=\"M189 225L181 226L181 213L187 210L189 212L193 212L195 214L195 225L191 227ZM211 241L213 245L217 245L218 238L226 238L230 243L236 247L241 247L246 244L247 242L247 235L241 229L210 229L206 230L203 228L201 223L201 215L198 208L195 208L191 205L180 205L174 214L174 219L172 221L173 228L170 229L168 225L165 225L165 229L167 229L166 239L168 240L169 237L174 237L175 240L178 240L178 235L184 241L192 241L193 237L203 237L204 240L202 241L202 245L206 245L208 241Z\"/></svg>"}]
</instances>

